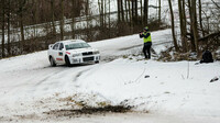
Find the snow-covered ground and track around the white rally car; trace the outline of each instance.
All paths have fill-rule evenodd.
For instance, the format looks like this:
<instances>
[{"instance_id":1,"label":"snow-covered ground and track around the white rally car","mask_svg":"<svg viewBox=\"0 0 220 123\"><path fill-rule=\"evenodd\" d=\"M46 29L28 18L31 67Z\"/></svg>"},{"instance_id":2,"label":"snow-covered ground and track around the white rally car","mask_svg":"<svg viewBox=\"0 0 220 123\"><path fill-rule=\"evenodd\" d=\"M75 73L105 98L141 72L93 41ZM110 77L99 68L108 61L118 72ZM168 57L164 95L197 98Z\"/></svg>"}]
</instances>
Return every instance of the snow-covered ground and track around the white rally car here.
<instances>
[{"instance_id":1,"label":"snow-covered ground and track around the white rally car","mask_svg":"<svg viewBox=\"0 0 220 123\"><path fill-rule=\"evenodd\" d=\"M156 53L170 45L170 30L153 32L152 36ZM50 67L46 51L1 59L0 122L220 122L220 81L210 82L220 76L220 62L143 60L138 35L90 45L100 49L100 64ZM47 114L108 104L132 109L77 116Z\"/></svg>"}]
</instances>

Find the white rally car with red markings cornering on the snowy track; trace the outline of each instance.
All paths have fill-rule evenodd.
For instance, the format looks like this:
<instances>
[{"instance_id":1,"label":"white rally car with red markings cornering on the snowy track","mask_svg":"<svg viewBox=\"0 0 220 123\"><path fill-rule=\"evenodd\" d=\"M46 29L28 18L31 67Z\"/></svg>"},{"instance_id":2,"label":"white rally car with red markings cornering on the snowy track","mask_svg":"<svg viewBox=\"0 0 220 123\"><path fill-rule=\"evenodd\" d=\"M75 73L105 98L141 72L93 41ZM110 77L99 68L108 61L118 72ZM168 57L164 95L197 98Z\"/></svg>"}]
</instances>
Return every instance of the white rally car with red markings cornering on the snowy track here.
<instances>
[{"instance_id":1,"label":"white rally car with red markings cornering on the snowy track","mask_svg":"<svg viewBox=\"0 0 220 123\"><path fill-rule=\"evenodd\" d=\"M70 66L73 64L99 63L100 54L81 40L68 40L56 42L48 46L48 59L51 66L57 64Z\"/></svg>"}]
</instances>

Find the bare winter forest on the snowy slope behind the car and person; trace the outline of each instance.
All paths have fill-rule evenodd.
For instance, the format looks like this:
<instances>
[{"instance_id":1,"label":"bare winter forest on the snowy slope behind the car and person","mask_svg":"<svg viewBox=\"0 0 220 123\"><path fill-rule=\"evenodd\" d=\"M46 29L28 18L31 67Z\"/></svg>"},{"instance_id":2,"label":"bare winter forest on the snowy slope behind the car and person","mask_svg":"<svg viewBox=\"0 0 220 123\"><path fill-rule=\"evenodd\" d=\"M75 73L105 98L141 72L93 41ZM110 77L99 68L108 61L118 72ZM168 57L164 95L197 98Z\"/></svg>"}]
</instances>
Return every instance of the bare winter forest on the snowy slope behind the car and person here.
<instances>
[{"instance_id":1,"label":"bare winter forest on the snowy slope behind the car and person","mask_svg":"<svg viewBox=\"0 0 220 123\"><path fill-rule=\"evenodd\" d=\"M170 48L178 54L199 57L220 46L218 0L0 0L0 58L68 38L95 42L138 34L144 26L172 29Z\"/></svg>"}]
</instances>

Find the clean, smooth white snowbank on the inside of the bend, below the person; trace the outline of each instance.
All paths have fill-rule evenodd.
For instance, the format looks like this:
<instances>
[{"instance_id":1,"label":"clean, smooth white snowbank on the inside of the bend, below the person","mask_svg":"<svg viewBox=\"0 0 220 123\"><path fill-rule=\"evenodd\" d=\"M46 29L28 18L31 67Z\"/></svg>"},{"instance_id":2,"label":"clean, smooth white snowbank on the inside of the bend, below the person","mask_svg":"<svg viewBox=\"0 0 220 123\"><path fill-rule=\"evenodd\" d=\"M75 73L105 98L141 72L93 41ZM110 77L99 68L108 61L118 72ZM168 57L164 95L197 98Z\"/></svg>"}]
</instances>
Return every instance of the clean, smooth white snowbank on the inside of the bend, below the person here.
<instances>
[{"instance_id":1,"label":"clean, smooth white snowbank on the inside of the bend, below the person","mask_svg":"<svg viewBox=\"0 0 220 123\"><path fill-rule=\"evenodd\" d=\"M190 63L190 67L194 64ZM220 98L217 98L219 83L209 83L210 78L218 74L219 63L191 68L187 79L186 62L117 59L85 72L78 86L85 88L80 91L101 93L116 104L123 100L131 100L134 105L145 103L140 110L220 116L216 113L220 112L216 109L220 103ZM150 78L144 78L146 75Z\"/></svg>"}]
</instances>

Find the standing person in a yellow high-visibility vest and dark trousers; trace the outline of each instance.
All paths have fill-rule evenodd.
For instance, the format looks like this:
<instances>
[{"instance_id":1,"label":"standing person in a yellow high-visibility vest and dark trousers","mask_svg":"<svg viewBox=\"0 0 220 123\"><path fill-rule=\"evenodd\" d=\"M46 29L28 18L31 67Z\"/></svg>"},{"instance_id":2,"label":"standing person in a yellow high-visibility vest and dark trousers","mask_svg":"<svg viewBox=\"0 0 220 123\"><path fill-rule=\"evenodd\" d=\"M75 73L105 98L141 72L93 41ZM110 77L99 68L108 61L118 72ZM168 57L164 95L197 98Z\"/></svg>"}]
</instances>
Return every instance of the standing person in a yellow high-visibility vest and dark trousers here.
<instances>
[{"instance_id":1,"label":"standing person in a yellow high-visibility vest and dark trousers","mask_svg":"<svg viewBox=\"0 0 220 123\"><path fill-rule=\"evenodd\" d=\"M152 38L151 38L151 32L148 27L144 27L144 32L140 33L140 38L144 38L144 47L143 53L146 59L151 59L151 46L152 46ZM146 55L147 52L147 55Z\"/></svg>"}]
</instances>

